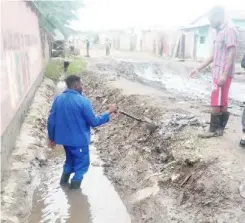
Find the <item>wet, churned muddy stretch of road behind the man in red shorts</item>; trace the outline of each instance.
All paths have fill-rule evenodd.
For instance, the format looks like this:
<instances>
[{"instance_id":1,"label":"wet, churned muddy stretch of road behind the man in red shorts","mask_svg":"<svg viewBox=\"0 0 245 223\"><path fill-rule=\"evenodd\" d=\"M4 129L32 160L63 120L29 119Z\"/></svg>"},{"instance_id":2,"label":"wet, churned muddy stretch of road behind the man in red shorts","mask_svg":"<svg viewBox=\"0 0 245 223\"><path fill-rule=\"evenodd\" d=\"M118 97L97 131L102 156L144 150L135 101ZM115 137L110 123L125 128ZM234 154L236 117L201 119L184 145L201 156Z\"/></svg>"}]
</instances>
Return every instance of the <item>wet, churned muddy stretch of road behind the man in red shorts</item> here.
<instances>
[{"instance_id":1,"label":"wet, churned muddy stretch of road behind the man in red shorts","mask_svg":"<svg viewBox=\"0 0 245 223\"><path fill-rule=\"evenodd\" d=\"M200 73L196 78L189 78L189 71L183 67L179 72L173 71L160 62L145 60L116 58L114 65L98 63L100 71L115 72L127 79L136 80L158 89L164 89L175 97L185 100L202 101L209 106L210 92L212 89L211 73ZM177 66L183 66L178 64ZM177 69L177 68L176 68ZM184 71L183 71L184 70ZM180 73L182 72L182 73ZM243 80L244 79L244 80ZM234 79L230 89L230 112L236 115L241 113L242 102L245 101L245 77L241 80Z\"/></svg>"}]
</instances>

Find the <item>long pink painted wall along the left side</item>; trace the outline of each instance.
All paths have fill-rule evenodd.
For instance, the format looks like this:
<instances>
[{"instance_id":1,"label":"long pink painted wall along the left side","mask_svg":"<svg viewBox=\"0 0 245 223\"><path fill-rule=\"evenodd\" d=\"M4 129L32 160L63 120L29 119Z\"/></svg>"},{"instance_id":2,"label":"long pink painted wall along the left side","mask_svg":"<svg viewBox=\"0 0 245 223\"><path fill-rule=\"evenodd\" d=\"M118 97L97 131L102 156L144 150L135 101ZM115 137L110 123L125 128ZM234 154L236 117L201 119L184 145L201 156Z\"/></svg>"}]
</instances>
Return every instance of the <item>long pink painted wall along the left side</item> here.
<instances>
[{"instance_id":1,"label":"long pink painted wall along the left side","mask_svg":"<svg viewBox=\"0 0 245 223\"><path fill-rule=\"evenodd\" d=\"M42 80L49 49L42 50L38 18L24 1L1 1L1 166L6 169L15 139Z\"/></svg>"}]
</instances>

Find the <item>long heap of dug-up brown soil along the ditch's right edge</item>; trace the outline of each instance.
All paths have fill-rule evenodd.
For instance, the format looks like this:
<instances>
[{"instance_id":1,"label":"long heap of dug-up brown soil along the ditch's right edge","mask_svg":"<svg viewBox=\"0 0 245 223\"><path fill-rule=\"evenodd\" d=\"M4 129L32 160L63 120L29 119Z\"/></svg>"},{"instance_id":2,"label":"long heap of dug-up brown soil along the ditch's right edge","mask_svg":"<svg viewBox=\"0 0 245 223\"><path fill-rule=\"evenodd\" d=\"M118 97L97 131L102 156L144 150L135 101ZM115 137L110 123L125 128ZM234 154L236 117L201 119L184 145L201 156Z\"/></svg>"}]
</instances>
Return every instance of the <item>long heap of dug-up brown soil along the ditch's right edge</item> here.
<instances>
[{"instance_id":1,"label":"long heap of dug-up brown soil along the ditch's right edge","mask_svg":"<svg viewBox=\"0 0 245 223\"><path fill-rule=\"evenodd\" d=\"M110 85L117 78L98 70L82 75L95 110L117 103L159 126L151 133L145 124L118 115L96 129L105 172L132 222L244 222L244 200L230 176L218 159L198 153L203 145L196 132L203 122L189 111L152 106L150 95L124 95Z\"/></svg>"}]
</instances>

